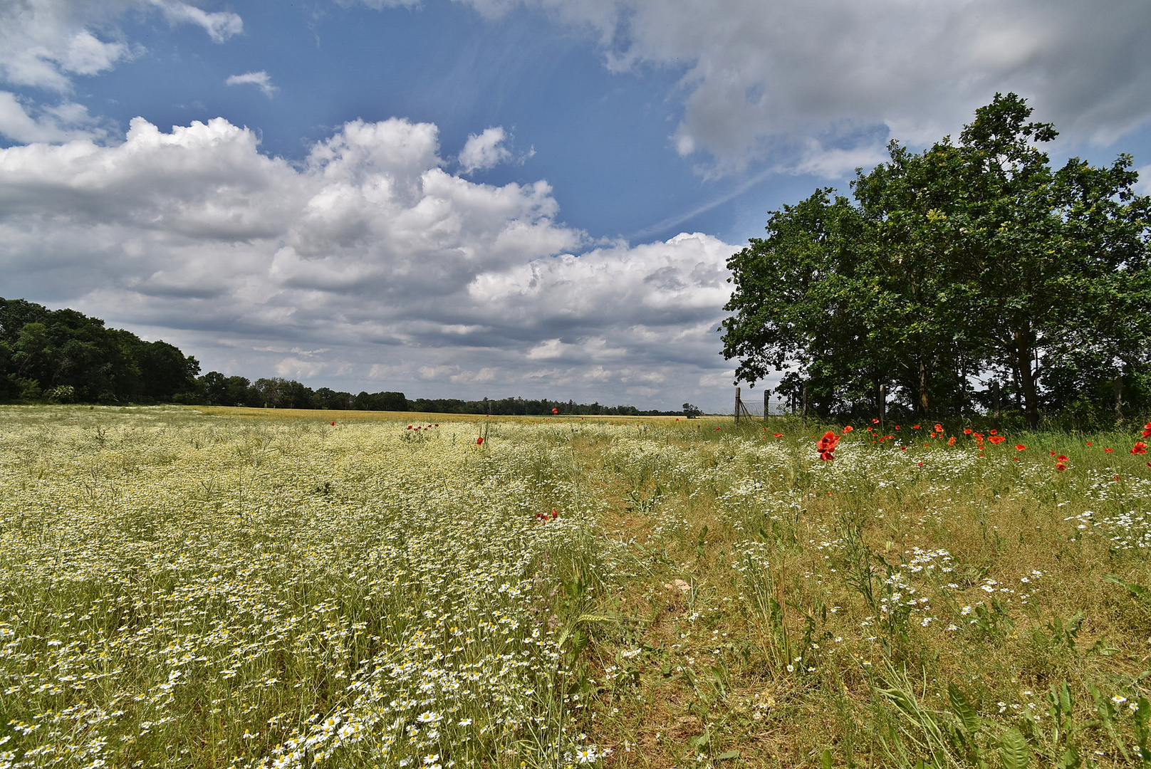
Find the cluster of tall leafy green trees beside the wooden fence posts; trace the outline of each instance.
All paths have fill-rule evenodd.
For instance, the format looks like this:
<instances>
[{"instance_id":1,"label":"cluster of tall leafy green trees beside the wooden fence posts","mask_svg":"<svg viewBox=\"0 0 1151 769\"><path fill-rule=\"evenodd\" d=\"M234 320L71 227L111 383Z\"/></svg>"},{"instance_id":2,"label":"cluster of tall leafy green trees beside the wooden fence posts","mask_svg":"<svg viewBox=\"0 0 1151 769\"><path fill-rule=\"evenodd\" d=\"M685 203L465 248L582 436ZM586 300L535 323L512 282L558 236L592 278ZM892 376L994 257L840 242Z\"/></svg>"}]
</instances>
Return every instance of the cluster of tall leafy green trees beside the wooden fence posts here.
<instances>
[{"instance_id":1,"label":"cluster of tall leafy green trees beside the wooden fence posts","mask_svg":"<svg viewBox=\"0 0 1151 769\"><path fill-rule=\"evenodd\" d=\"M769 213L727 262L724 356L815 413L1151 410L1151 201L1130 155L1053 169L1014 93L920 153ZM887 401L889 396L892 398Z\"/></svg>"}]
</instances>

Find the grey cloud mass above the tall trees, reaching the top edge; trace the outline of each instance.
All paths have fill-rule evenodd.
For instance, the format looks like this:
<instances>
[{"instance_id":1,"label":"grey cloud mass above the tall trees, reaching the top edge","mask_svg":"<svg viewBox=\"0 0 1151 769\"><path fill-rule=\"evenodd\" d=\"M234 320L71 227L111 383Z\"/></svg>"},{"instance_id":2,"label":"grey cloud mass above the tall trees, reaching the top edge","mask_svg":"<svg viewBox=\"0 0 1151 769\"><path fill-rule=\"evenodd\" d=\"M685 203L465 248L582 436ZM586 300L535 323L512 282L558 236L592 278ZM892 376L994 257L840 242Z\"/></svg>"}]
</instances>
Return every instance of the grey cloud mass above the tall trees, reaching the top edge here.
<instances>
[{"instance_id":1,"label":"grey cloud mass above the tall trees, reaching the top edge","mask_svg":"<svg viewBox=\"0 0 1151 769\"><path fill-rule=\"evenodd\" d=\"M708 174L785 155L800 158L793 170L822 173L870 157L889 131L928 143L996 91L1029 98L1076 140L1108 144L1151 117L1145 0L468 2L489 17L547 9L590 30L613 70L680 73L670 142L710 155ZM813 150L813 135L831 140Z\"/></svg>"}]
</instances>

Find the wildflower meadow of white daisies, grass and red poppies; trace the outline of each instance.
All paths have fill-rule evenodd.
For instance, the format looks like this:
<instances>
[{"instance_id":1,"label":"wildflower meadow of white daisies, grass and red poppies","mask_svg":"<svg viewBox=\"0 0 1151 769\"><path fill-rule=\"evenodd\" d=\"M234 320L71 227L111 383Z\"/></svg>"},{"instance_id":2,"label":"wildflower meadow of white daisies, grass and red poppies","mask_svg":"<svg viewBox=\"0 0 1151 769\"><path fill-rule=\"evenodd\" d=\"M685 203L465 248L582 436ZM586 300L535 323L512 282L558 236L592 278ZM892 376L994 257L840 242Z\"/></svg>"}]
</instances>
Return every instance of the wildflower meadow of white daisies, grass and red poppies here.
<instances>
[{"instance_id":1,"label":"wildflower meadow of white daisies, grass and red poppies","mask_svg":"<svg viewBox=\"0 0 1151 769\"><path fill-rule=\"evenodd\" d=\"M0 408L0 769L1151 763L1137 432L830 427Z\"/></svg>"}]
</instances>

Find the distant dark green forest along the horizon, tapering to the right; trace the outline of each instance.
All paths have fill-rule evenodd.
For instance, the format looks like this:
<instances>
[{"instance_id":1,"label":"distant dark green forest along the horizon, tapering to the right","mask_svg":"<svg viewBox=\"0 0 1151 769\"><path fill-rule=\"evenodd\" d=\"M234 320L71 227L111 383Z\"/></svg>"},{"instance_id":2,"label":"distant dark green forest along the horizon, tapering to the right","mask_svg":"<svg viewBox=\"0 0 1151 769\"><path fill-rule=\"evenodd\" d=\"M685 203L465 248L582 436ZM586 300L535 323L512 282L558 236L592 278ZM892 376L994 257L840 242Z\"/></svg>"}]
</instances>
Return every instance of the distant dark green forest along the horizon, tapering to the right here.
<instances>
[{"instance_id":1,"label":"distant dark green forest along the horizon, tapering to the right","mask_svg":"<svg viewBox=\"0 0 1151 769\"><path fill-rule=\"evenodd\" d=\"M529 416L671 416L574 401L414 398L403 393L341 393L290 379L224 376L167 342L145 342L75 310L0 297L0 401L25 403L184 403L220 406L427 411Z\"/></svg>"}]
</instances>

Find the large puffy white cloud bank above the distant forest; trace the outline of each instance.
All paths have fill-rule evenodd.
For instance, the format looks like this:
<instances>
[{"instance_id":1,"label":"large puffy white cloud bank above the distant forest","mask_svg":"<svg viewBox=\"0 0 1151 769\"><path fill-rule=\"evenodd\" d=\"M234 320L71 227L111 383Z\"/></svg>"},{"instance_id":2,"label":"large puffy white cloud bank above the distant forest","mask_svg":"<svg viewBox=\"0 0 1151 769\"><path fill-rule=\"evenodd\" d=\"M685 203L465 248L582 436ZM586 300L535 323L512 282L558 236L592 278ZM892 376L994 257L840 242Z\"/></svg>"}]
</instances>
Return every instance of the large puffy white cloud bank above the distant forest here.
<instances>
[{"instance_id":1,"label":"large puffy white cloud bank above the distant forest","mask_svg":"<svg viewBox=\"0 0 1151 769\"><path fill-rule=\"evenodd\" d=\"M0 150L6 294L228 373L352 389L678 405L723 370L734 246L588 249L547 182L444 166L436 127L399 119L346 123L295 165L223 119Z\"/></svg>"}]
</instances>

